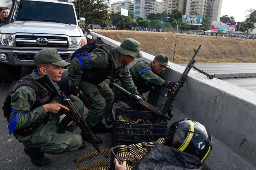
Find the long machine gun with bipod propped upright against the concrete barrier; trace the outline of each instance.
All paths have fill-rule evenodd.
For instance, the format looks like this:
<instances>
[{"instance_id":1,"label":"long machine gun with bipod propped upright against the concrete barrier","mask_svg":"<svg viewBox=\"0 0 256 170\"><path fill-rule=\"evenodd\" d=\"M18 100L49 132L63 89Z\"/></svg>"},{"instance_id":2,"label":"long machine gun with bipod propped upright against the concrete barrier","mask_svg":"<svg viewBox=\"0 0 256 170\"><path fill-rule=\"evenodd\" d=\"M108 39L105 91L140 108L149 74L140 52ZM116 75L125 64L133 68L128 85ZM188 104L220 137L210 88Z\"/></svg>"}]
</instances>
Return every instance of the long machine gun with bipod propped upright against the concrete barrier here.
<instances>
[{"instance_id":1,"label":"long machine gun with bipod propped upright against the concrete barrier","mask_svg":"<svg viewBox=\"0 0 256 170\"><path fill-rule=\"evenodd\" d=\"M173 109L172 103L176 99L176 96L177 96L178 92L180 91L180 88L183 87L183 84L186 81L187 75L189 74L189 71L190 71L190 69L192 67L195 70L197 70L197 71L203 73L204 75L206 75L209 79L213 79L214 78L213 75L209 75L208 73L205 73L204 71L199 70L198 68L196 68L194 66L194 63L195 63L195 59L194 58L195 58L195 56L198 53L200 48L201 48L201 45L198 47L197 50L194 49L195 54L192 57L192 59L190 60L189 64L187 65L186 69L183 71L182 75L180 76L180 79L177 82L178 85L177 85L176 89L175 90L172 89L171 92L168 91L168 94L167 94L168 99L166 100L164 105L161 105L161 107L163 107L163 109L161 109L161 107L160 107L160 109L161 109L163 114L168 114L169 117L173 117L173 115L171 114L171 110Z\"/></svg>"}]
</instances>

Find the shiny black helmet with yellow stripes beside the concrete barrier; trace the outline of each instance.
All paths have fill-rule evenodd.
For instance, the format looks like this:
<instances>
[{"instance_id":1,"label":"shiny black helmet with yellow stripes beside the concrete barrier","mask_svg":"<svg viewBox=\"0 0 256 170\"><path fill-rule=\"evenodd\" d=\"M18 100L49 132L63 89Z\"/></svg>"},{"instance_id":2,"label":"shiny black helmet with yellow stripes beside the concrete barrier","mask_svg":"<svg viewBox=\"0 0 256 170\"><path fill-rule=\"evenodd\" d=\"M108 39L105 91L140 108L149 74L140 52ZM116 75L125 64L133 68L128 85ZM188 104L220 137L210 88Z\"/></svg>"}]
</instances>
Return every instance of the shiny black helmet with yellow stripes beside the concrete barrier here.
<instances>
[{"instance_id":1,"label":"shiny black helmet with yellow stripes beside the concrete barrier","mask_svg":"<svg viewBox=\"0 0 256 170\"><path fill-rule=\"evenodd\" d=\"M204 125L191 119L183 119L171 125L164 145L194 155L204 160L212 149L211 134Z\"/></svg>"}]
</instances>

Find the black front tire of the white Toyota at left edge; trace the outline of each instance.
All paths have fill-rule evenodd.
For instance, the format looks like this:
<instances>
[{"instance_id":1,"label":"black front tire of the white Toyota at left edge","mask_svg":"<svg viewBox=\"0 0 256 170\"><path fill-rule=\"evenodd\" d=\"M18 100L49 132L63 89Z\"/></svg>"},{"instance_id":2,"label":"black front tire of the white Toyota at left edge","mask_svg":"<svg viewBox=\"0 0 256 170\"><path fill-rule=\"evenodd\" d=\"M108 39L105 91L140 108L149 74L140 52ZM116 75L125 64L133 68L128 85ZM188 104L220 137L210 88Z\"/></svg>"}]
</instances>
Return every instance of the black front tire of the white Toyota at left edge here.
<instances>
[{"instance_id":1,"label":"black front tire of the white Toyota at left edge","mask_svg":"<svg viewBox=\"0 0 256 170\"><path fill-rule=\"evenodd\" d=\"M14 82L21 75L21 68L0 63L0 79L4 82Z\"/></svg>"}]
</instances>

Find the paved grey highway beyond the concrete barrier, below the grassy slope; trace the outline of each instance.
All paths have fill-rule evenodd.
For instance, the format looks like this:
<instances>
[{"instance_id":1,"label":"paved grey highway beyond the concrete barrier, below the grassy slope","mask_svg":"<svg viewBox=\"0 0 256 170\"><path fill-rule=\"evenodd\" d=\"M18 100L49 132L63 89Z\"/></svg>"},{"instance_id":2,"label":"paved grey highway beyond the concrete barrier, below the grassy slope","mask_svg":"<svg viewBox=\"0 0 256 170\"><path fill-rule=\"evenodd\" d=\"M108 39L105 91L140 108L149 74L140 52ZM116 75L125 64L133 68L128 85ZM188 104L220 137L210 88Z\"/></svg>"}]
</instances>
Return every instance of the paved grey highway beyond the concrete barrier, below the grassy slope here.
<instances>
[{"instance_id":1,"label":"paved grey highway beyond the concrete barrier, below the grassy slope","mask_svg":"<svg viewBox=\"0 0 256 170\"><path fill-rule=\"evenodd\" d=\"M186 63L178 65L184 67L187 66ZM195 63L194 66L210 75L226 73L256 73L256 63ZM192 68L192 70L194 69ZM221 80L256 93L256 77L227 78Z\"/></svg>"}]
</instances>

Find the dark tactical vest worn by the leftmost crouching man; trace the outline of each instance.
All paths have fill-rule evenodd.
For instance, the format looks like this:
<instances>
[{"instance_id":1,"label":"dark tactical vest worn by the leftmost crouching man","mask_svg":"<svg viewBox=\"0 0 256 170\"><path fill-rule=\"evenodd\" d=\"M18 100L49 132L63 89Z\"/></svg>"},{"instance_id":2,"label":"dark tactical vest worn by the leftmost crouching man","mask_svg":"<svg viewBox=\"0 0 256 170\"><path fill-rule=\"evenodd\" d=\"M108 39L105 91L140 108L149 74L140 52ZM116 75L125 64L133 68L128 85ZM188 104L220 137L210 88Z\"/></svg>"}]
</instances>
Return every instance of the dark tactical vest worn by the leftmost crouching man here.
<instances>
[{"instance_id":1,"label":"dark tactical vest worn by the leftmost crouching man","mask_svg":"<svg viewBox=\"0 0 256 170\"><path fill-rule=\"evenodd\" d=\"M7 92L7 97L4 102L3 110L4 110L4 116L7 117L8 122L10 121L10 114L12 110L10 107L11 95L14 94L14 92L16 92L16 90L23 85L33 88L36 92L36 101L30 108L30 111L36 109L41 105L49 103L52 99L52 94L49 91L45 91L40 85L38 85L35 82L35 80L33 80L32 77L29 77L29 75L24 76L23 78L21 78L21 80L12 83L12 85L10 86ZM36 121L29 124L29 126L26 126L22 129L15 129L13 134L16 138L17 138L17 134L20 134L22 136L29 136L30 134L35 132L36 129L38 129L42 124L46 124L48 120L49 120L49 114L46 114L45 116L42 116Z\"/></svg>"}]
</instances>

